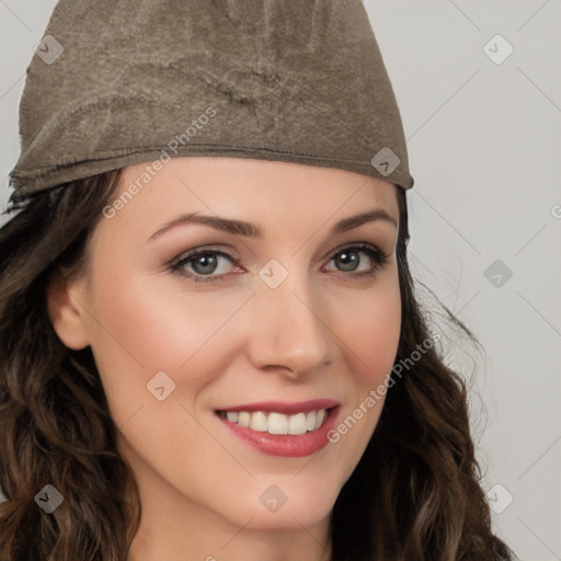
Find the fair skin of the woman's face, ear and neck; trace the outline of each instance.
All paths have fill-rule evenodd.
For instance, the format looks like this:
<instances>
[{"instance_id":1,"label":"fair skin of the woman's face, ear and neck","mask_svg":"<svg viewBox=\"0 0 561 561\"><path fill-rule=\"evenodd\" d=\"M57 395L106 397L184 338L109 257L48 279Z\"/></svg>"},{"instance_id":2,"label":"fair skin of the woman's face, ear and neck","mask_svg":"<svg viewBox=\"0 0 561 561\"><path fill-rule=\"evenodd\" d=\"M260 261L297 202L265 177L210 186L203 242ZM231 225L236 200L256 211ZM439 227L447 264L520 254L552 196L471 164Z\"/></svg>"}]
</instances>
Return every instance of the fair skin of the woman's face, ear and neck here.
<instances>
[{"instance_id":1,"label":"fair skin of the woman's face, ear and neck","mask_svg":"<svg viewBox=\"0 0 561 561\"><path fill-rule=\"evenodd\" d=\"M146 165L124 170L114 199ZM139 484L142 523L129 561L329 559L330 514L383 398L337 443L302 458L254 450L214 410L333 398L341 422L386 381L401 328L398 229L386 220L330 229L374 208L398 221L397 188L340 169L172 159L96 226L90 272L51 282L54 328L69 348L91 345L119 453ZM259 224L264 238L187 225L147 242L191 211ZM332 259L356 242L379 248L388 263L360 276L376 265L367 253L355 254L356 271ZM214 282L167 266L198 247L232 255L217 257ZM257 275L272 259L288 272L274 289ZM208 265L195 267L183 271L210 277L201 273ZM161 370L175 383L163 401L147 390ZM272 484L287 497L274 513L260 501Z\"/></svg>"}]
</instances>

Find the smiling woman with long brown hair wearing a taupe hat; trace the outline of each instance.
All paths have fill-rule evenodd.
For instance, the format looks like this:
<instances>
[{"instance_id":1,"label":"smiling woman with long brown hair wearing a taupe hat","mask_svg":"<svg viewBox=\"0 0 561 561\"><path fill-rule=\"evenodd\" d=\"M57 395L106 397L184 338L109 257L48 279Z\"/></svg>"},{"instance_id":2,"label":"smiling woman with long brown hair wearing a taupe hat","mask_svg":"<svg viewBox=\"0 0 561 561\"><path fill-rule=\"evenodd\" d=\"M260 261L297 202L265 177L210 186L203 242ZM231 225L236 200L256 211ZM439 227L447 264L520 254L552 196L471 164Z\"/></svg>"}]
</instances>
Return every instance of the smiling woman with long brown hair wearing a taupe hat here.
<instances>
[{"instance_id":1,"label":"smiling woman with long brown hair wearing a taupe hat","mask_svg":"<svg viewBox=\"0 0 561 561\"><path fill-rule=\"evenodd\" d=\"M0 230L0 559L511 559L362 3L68 0L41 48Z\"/></svg>"}]
</instances>

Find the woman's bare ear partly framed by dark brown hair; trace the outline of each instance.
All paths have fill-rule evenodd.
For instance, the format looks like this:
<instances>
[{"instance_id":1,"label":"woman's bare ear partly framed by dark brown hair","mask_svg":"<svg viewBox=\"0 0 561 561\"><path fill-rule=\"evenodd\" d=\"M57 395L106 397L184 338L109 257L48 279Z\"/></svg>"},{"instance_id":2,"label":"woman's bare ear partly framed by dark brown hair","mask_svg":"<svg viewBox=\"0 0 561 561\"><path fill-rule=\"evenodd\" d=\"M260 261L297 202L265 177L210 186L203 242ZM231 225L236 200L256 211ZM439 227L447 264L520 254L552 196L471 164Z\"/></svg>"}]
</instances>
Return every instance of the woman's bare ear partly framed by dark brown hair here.
<instances>
[{"instance_id":1,"label":"woman's bare ear partly framed by dark brown hair","mask_svg":"<svg viewBox=\"0 0 561 561\"><path fill-rule=\"evenodd\" d=\"M69 348L79 351L90 344L83 316L85 310L80 306L75 294L78 290L68 282L60 270L54 271L47 283L47 309L53 328L60 341Z\"/></svg>"}]
</instances>

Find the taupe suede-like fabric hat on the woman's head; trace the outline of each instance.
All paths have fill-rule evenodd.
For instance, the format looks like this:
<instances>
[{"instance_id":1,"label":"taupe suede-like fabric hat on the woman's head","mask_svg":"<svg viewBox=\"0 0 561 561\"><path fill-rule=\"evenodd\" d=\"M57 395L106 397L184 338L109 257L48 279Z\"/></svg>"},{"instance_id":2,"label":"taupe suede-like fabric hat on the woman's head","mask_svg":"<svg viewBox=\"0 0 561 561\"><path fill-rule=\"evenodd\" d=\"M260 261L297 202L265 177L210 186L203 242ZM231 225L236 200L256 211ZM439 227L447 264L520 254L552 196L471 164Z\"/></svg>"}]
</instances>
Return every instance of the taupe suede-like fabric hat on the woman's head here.
<instances>
[{"instance_id":1,"label":"taupe suede-like fabric hat on the woman's head","mask_svg":"<svg viewBox=\"0 0 561 561\"><path fill-rule=\"evenodd\" d=\"M18 196L180 156L414 183L360 0L61 0L27 68L20 135Z\"/></svg>"}]
</instances>

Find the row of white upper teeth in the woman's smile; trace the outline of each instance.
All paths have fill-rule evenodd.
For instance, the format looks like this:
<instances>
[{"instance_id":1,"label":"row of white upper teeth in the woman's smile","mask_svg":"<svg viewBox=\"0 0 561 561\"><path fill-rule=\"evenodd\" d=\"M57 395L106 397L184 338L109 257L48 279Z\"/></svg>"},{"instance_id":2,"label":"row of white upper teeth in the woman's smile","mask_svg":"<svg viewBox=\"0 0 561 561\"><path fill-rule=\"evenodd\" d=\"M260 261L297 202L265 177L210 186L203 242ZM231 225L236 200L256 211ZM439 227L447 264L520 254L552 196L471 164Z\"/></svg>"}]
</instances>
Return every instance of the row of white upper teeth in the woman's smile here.
<instances>
[{"instance_id":1,"label":"row of white upper teeth in the woman's smile","mask_svg":"<svg viewBox=\"0 0 561 561\"><path fill-rule=\"evenodd\" d=\"M309 413L297 413L296 415L284 415L283 413L265 413L264 411L228 411L220 413L222 417L240 426L249 426L260 433L270 434L306 434L308 431L318 430L323 423L327 411L310 411Z\"/></svg>"}]
</instances>

